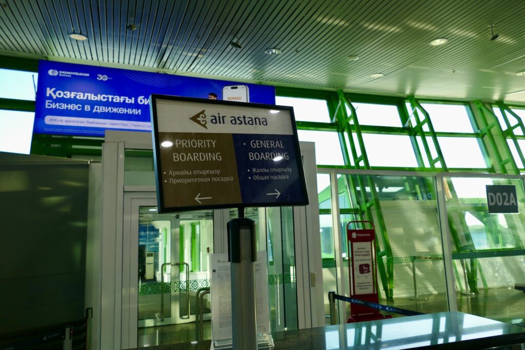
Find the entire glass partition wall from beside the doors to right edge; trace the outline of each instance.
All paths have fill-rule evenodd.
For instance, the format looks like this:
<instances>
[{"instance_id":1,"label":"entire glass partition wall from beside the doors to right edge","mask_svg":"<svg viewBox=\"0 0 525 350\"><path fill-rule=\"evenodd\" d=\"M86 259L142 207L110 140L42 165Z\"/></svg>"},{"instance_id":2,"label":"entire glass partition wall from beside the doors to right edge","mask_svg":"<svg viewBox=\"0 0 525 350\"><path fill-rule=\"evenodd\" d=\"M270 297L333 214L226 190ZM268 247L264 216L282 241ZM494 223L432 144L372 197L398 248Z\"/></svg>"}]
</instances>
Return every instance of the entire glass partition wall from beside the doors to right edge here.
<instances>
[{"instance_id":1,"label":"entire glass partition wall from beside the doors to right edge","mask_svg":"<svg viewBox=\"0 0 525 350\"><path fill-rule=\"evenodd\" d=\"M357 172L327 169L326 174L318 174L324 293L335 290L348 295L351 252L346 225L369 220L375 225L381 304L424 313L447 311L448 305L457 304L461 312L514 324L525 321L525 298L515 288L525 284L523 178ZM330 178L337 182L330 183ZM487 185L514 187L518 213L490 214ZM331 198L334 186L338 198ZM438 193L443 204L438 203ZM340 225L327 236L323 231L332 228L323 216L332 214L334 206L339 209ZM445 249L443 227L447 235L450 232ZM335 254L339 251L341 257ZM335 269L338 261L343 264L342 276ZM451 271L447 276L446 263ZM350 309L348 303L340 305Z\"/></svg>"}]
</instances>

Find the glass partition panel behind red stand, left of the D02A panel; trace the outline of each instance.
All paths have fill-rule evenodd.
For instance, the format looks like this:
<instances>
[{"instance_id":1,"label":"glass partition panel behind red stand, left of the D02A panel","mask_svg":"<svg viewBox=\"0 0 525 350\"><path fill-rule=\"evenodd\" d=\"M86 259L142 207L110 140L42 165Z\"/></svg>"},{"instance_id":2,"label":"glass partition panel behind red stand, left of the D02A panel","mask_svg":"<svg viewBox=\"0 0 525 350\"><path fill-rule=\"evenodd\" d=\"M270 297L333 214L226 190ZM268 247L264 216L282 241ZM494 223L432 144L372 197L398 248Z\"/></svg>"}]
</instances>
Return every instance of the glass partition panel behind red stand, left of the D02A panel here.
<instances>
[{"instance_id":1,"label":"glass partition panel behind red stand, left of the D02A panel","mask_svg":"<svg viewBox=\"0 0 525 350\"><path fill-rule=\"evenodd\" d=\"M338 187L345 267L351 261L346 225L370 220L380 303L424 313L447 311L435 179L342 175ZM350 283L349 269L343 271L343 282Z\"/></svg>"}]
</instances>

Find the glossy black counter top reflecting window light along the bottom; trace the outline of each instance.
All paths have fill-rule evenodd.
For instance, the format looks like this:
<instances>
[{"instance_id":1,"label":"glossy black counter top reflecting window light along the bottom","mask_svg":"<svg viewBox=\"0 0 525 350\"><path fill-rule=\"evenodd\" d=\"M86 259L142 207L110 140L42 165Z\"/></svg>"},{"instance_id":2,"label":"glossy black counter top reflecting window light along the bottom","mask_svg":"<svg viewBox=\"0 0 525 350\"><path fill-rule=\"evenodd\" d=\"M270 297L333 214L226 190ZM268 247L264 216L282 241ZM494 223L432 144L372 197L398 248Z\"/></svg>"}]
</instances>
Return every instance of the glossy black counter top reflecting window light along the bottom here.
<instances>
[{"instance_id":1,"label":"glossy black counter top reflecting window light along the bottom","mask_svg":"<svg viewBox=\"0 0 525 350\"><path fill-rule=\"evenodd\" d=\"M525 343L525 328L462 312L278 332L275 349L490 348ZM144 347L155 350L209 350L211 341Z\"/></svg>"}]
</instances>

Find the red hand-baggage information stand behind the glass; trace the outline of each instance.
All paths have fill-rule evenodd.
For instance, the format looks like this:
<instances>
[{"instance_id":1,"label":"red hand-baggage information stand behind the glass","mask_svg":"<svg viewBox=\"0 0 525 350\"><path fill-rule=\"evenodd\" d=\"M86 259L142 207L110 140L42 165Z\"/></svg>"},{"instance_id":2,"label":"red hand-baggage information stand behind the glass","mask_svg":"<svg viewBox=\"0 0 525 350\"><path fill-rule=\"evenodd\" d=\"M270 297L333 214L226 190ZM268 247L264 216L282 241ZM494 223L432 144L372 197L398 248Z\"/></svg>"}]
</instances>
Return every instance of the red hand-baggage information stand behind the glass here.
<instances>
[{"instance_id":1,"label":"red hand-baggage information stand behind the glass","mask_svg":"<svg viewBox=\"0 0 525 350\"><path fill-rule=\"evenodd\" d=\"M371 229L349 228L351 224L370 224ZM350 221L346 225L348 252L352 256L350 271L351 298L379 303L377 294L377 264L375 256L375 227L372 221ZM371 307L352 304L348 323L390 319Z\"/></svg>"}]
</instances>

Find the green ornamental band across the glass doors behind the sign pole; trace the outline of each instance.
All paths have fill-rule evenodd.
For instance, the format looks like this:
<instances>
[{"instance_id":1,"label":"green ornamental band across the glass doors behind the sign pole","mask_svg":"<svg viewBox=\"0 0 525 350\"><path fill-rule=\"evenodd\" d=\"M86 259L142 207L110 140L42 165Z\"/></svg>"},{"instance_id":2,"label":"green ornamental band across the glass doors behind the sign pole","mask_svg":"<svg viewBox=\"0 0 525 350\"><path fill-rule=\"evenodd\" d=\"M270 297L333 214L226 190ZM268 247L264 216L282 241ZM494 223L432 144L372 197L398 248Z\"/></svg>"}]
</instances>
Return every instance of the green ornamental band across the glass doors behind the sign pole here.
<instances>
[{"instance_id":1,"label":"green ornamental band across the glass doors behind the sign pole","mask_svg":"<svg viewBox=\"0 0 525 350\"><path fill-rule=\"evenodd\" d=\"M277 284L290 284L296 283L295 273L278 273L268 275L268 285L277 285ZM143 283L139 288L139 295L151 295L151 294L160 294L161 293L160 282L154 283ZM201 288L208 288L209 280L190 280L190 291L196 292ZM186 281L172 281L164 282L163 292L164 293L175 293L175 292L185 292L188 288Z\"/></svg>"}]
</instances>

